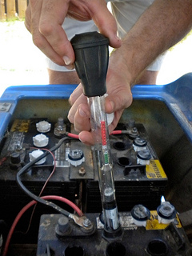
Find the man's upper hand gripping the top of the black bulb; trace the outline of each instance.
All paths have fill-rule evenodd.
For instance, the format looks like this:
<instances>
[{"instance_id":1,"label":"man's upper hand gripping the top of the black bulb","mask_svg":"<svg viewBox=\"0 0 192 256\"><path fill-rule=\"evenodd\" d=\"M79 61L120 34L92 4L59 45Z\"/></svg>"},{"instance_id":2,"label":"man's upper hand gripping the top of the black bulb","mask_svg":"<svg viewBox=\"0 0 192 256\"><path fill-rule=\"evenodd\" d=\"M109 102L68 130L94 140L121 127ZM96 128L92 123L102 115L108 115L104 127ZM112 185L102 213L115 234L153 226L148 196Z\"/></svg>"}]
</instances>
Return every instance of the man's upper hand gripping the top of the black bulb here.
<instances>
[{"instance_id":1,"label":"man's upper hand gripping the top of the black bulb","mask_svg":"<svg viewBox=\"0 0 192 256\"><path fill-rule=\"evenodd\" d=\"M105 0L30 0L26 9L26 28L36 46L60 66L73 68L74 50L62 29L66 16L88 21L93 19L99 31L119 47L116 22Z\"/></svg>"}]
</instances>

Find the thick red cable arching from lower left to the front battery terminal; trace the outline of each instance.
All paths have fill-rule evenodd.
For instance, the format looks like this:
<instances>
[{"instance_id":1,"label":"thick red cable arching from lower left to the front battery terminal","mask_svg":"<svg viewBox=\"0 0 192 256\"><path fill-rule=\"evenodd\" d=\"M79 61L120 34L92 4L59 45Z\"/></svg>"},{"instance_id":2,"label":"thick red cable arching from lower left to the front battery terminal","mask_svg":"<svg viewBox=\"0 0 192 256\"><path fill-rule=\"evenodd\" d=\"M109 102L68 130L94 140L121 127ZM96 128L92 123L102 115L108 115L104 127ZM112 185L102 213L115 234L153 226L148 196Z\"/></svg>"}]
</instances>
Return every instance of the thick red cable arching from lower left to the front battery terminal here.
<instances>
[{"instance_id":1,"label":"thick red cable arching from lower left to the front battery terminal","mask_svg":"<svg viewBox=\"0 0 192 256\"><path fill-rule=\"evenodd\" d=\"M61 202L65 202L67 205L72 207L80 217L83 215L82 210L80 210L78 208L78 206L76 206L73 202L71 202L70 200L68 200L66 198L62 198L62 197L59 197L57 195L46 195L42 198L45 199L45 200L58 200L58 201L61 201ZM24 206L22 208L22 210L20 210L20 212L18 213L18 215L14 219L14 222L13 222L12 226L10 227L9 234L7 235L7 238L6 238L6 244L5 244L2 256L6 256L6 254L8 252L8 248L9 248L9 245L10 245L10 239L11 239L13 233L14 233L15 226L18 224L18 221L20 220L20 218L22 218L22 214L24 214L26 212L26 210L28 210L31 206L33 206L36 203L37 202L34 201L34 200L29 202L26 206Z\"/></svg>"}]
</instances>

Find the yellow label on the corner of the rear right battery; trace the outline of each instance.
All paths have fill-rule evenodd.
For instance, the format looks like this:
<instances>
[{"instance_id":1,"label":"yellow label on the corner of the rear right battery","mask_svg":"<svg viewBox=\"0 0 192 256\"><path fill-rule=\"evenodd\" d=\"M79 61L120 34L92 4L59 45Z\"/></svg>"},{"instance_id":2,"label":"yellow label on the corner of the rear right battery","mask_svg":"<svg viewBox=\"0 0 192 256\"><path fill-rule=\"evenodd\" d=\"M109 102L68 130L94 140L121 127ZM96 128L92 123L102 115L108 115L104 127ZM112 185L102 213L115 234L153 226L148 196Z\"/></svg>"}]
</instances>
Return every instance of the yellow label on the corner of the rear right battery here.
<instances>
[{"instance_id":1,"label":"yellow label on the corner of the rear right battery","mask_svg":"<svg viewBox=\"0 0 192 256\"><path fill-rule=\"evenodd\" d=\"M166 174L162 169L162 165L158 160L150 160L150 164L146 165L147 178L166 178Z\"/></svg>"}]
</instances>

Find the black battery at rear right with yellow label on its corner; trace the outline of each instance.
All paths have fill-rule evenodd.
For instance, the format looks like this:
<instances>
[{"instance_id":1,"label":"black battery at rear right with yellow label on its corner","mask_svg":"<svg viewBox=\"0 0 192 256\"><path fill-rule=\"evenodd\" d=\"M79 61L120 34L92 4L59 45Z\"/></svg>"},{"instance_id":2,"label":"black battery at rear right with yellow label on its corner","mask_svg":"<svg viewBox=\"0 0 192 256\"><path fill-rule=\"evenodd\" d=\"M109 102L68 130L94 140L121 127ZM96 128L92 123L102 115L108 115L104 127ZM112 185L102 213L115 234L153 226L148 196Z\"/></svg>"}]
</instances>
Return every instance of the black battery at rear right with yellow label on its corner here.
<instances>
[{"instance_id":1,"label":"black battery at rear right with yellow label on its corner","mask_svg":"<svg viewBox=\"0 0 192 256\"><path fill-rule=\"evenodd\" d=\"M131 210L138 203L153 210L159 205L162 195L165 194L168 178L150 143L145 127L142 124L135 124L133 128L136 137L131 136L130 127L126 124L118 124L117 130L126 130L127 134L110 135L118 210ZM133 143L138 136L147 142L145 150L150 154L148 165L141 165L137 162L138 153L134 150ZM139 153L141 152L139 151ZM95 174L94 180L89 180L86 183L86 190L87 212L96 212L98 206L102 210L97 174Z\"/></svg>"}]
</instances>

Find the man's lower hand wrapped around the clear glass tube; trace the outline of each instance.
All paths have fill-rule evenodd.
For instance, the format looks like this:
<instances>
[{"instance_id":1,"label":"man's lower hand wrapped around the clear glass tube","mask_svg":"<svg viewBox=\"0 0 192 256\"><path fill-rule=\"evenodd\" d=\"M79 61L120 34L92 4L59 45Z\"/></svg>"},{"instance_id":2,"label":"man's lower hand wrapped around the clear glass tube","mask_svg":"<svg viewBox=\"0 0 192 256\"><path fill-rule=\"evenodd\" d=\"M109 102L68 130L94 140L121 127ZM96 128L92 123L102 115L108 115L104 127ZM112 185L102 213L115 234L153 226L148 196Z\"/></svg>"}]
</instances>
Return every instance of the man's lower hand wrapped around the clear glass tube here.
<instances>
[{"instance_id":1,"label":"man's lower hand wrapped around the clear glass tube","mask_svg":"<svg viewBox=\"0 0 192 256\"><path fill-rule=\"evenodd\" d=\"M105 105L106 113L114 112L114 121L109 126L110 133L117 126L123 110L132 103L127 66L123 62L119 62L118 59L112 54L106 76L108 94ZM79 132L79 139L87 145L94 144L94 138L90 132L90 110L87 98L82 94L81 84L70 95L70 104L72 107L68 118L70 122L74 123L74 129Z\"/></svg>"}]
</instances>

